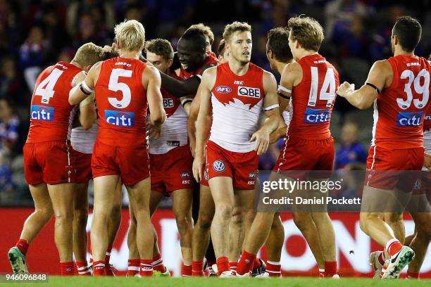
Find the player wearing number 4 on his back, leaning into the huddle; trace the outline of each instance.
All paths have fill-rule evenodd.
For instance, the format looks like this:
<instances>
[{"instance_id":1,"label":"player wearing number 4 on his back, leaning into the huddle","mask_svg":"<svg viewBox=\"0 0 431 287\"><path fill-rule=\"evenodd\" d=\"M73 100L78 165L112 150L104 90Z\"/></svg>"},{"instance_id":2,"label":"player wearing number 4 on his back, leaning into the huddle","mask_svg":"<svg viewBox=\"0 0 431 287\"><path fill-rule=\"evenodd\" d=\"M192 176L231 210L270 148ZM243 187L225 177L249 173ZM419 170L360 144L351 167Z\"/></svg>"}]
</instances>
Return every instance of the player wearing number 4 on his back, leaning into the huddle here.
<instances>
[{"instance_id":1,"label":"player wearing number 4 on his back, leaning into the huddle","mask_svg":"<svg viewBox=\"0 0 431 287\"><path fill-rule=\"evenodd\" d=\"M73 158L70 129L74 105L70 89L85 77L103 56L101 47L84 44L70 63L58 62L37 78L32 96L30 130L23 148L25 181L35 200L35 212L24 223L20 240L8 253L14 273L27 273L29 244L56 216L54 238L60 255L61 274L73 275Z\"/></svg>"}]
</instances>

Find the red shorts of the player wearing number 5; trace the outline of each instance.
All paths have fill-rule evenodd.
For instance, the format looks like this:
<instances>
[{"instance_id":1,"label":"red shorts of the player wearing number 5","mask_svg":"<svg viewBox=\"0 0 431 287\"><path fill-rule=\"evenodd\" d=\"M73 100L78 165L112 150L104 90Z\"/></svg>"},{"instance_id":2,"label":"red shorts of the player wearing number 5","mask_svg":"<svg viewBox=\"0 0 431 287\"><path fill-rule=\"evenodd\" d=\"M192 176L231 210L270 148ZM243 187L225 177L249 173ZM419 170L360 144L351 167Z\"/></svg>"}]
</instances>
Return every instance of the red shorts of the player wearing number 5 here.
<instances>
[{"instance_id":1,"label":"red shorts of the player wearing number 5","mask_svg":"<svg viewBox=\"0 0 431 287\"><path fill-rule=\"evenodd\" d=\"M94 144L93 178L119 175L125 186L137 184L150 176L146 146L109 146L100 141Z\"/></svg>"}]
</instances>

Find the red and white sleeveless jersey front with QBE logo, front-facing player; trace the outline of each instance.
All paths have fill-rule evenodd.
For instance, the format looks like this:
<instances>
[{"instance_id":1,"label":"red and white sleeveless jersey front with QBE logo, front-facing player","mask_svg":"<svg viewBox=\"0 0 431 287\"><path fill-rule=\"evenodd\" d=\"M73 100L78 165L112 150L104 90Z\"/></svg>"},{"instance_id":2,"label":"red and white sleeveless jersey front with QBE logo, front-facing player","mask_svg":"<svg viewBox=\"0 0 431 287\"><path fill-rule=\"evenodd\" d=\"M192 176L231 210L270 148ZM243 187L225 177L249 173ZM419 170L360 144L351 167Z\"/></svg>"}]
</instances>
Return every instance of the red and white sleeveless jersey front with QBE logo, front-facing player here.
<instances>
[{"instance_id":1,"label":"red and white sleeveless jersey front with QBE logo, front-facing player","mask_svg":"<svg viewBox=\"0 0 431 287\"><path fill-rule=\"evenodd\" d=\"M227 151L247 153L256 147L249 139L258 129L263 108L263 69L250 63L242 76L230 70L229 63L217 66L211 89L213 123L209 140Z\"/></svg>"}]
</instances>

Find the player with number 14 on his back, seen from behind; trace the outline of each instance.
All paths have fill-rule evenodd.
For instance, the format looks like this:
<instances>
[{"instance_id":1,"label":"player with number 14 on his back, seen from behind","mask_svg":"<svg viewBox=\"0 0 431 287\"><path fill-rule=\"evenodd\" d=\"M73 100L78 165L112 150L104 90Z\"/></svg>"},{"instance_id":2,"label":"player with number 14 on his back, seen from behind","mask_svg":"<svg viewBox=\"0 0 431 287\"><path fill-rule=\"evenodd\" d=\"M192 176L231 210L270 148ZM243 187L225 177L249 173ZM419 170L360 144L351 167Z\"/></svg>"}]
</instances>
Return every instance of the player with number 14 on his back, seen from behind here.
<instances>
[{"instance_id":1,"label":"player with number 14 on his back, seen from behind","mask_svg":"<svg viewBox=\"0 0 431 287\"><path fill-rule=\"evenodd\" d=\"M318 53L323 42L323 28L316 20L308 17L290 18L287 26L289 47L296 62L290 63L283 70L278 91L283 98L292 97L292 117L273 171L276 174L285 174L289 171L317 170L319 174L313 174L313 177L321 177L318 180L324 181L332 171L334 160L334 140L329 126L335 89L339 84L338 73ZM307 158L304 158L304 154L308 155ZM307 196L313 196L312 191L305 192ZM317 191L316 196L321 194ZM312 220L308 221L308 224L316 225L316 236L319 238L325 260L325 276L337 277L335 232L330 217L323 210L311 212L310 216ZM273 217L274 212L257 213L249 240L246 241L244 253L238 263L239 275L249 272L249 262L256 257L265 242Z\"/></svg>"}]
</instances>

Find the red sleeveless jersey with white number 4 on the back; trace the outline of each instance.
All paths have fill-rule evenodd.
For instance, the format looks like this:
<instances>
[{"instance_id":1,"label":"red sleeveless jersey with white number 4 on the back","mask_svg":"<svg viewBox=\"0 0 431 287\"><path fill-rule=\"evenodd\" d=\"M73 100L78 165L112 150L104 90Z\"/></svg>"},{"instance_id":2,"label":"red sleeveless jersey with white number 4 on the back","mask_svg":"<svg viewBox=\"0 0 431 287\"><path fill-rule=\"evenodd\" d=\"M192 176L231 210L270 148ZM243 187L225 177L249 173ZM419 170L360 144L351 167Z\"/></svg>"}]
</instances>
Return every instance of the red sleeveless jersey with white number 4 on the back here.
<instances>
[{"instance_id":1,"label":"red sleeveless jersey with white number 4 on the back","mask_svg":"<svg viewBox=\"0 0 431 287\"><path fill-rule=\"evenodd\" d=\"M81 71L73 64L58 62L40 73L32 95L27 143L69 139L76 113L69 104L69 91L73 78Z\"/></svg>"}]
</instances>

